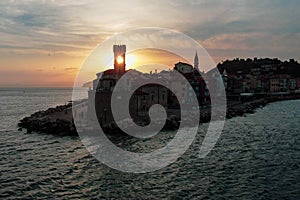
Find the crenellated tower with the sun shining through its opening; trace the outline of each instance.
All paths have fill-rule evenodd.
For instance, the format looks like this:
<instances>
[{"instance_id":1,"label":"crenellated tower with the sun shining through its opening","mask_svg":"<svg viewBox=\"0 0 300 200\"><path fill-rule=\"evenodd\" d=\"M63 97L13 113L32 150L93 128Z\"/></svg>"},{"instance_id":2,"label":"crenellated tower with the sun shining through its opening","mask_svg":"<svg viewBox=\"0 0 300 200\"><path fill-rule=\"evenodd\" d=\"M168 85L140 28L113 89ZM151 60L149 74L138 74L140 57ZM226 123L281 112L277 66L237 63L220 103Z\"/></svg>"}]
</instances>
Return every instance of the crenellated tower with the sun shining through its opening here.
<instances>
[{"instance_id":1,"label":"crenellated tower with the sun shining through its opening","mask_svg":"<svg viewBox=\"0 0 300 200\"><path fill-rule=\"evenodd\" d=\"M114 45L114 69L117 74L125 73L125 54L126 54L126 45Z\"/></svg>"}]
</instances>

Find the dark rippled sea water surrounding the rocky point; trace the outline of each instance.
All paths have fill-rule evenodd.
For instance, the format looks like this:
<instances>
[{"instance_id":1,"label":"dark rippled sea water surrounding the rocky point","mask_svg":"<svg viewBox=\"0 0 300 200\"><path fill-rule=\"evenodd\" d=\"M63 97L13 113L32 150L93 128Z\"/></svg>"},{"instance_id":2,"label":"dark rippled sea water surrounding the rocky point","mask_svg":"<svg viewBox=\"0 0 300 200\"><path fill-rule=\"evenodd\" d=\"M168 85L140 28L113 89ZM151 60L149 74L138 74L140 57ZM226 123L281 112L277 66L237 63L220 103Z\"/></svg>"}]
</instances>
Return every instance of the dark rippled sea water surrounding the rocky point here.
<instances>
[{"instance_id":1,"label":"dark rippled sea water surrounding the rocky point","mask_svg":"<svg viewBox=\"0 0 300 200\"><path fill-rule=\"evenodd\" d=\"M78 138L17 131L22 117L70 99L71 90L0 89L0 199L300 199L299 100L228 120L205 159L198 136L170 166L128 174L99 163Z\"/></svg>"}]
</instances>

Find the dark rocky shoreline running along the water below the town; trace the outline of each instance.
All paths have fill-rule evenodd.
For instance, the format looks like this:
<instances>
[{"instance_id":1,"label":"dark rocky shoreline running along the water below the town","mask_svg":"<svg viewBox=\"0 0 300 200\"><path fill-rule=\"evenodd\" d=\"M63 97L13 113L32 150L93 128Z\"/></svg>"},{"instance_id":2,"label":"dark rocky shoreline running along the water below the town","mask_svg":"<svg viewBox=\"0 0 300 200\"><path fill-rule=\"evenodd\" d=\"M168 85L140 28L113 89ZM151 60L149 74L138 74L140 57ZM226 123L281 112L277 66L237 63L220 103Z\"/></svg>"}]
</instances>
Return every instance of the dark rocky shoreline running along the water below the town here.
<instances>
[{"instance_id":1,"label":"dark rocky shoreline running along the water below the town","mask_svg":"<svg viewBox=\"0 0 300 200\"><path fill-rule=\"evenodd\" d=\"M286 96L268 96L260 99L255 99L247 102L239 102L234 105L228 105L226 111L226 119L237 116L244 116L245 114L253 114L257 108L262 108L269 103L297 100L300 99L299 94ZM59 136L78 136L72 115L72 103L66 105L56 106L55 108L48 108L44 111L33 113L29 117L25 117L18 123L19 130L23 128L27 133L45 133ZM201 110L201 109L200 109ZM200 112L200 122L207 123L210 121L210 109ZM171 116L167 118L163 130L177 130L180 125L178 117ZM108 134L118 133L120 130L112 124L103 127Z\"/></svg>"}]
</instances>

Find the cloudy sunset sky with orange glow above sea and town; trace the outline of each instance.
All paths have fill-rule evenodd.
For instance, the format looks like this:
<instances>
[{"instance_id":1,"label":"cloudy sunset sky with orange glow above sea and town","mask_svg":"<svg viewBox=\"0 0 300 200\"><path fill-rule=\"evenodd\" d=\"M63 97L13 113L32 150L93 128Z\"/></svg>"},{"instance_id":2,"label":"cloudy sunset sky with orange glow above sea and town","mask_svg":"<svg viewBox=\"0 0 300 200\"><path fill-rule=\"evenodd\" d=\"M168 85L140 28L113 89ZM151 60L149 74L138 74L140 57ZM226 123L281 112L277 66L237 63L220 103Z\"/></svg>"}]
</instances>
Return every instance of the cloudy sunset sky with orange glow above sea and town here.
<instances>
[{"instance_id":1,"label":"cloudy sunset sky with orange glow above sea and town","mask_svg":"<svg viewBox=\"0 0 300 200\"><path fill-rule=\"evenodd\" d=\"M98 44L139 27L181 31L216 63L236 57L299 61L299 18L298 0L0 1L0 87L70 87ZM134 57L170 67L178 62L166 52Z\"/></svg>"}]
</instances>

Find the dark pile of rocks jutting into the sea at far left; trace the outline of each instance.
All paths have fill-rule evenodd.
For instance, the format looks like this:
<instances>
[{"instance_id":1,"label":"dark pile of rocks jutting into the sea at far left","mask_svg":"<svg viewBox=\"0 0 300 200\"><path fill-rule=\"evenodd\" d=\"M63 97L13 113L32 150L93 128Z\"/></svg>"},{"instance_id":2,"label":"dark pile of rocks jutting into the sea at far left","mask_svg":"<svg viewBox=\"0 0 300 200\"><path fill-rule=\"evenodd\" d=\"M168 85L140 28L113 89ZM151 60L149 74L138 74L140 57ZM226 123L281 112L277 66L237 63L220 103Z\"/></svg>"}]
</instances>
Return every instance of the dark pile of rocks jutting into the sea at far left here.
<instances>
[{"instance_id":1,"label":"dark pile of rocks jutting into the sea at far left","mask_svg":"<svg viewBox=\"0 0 300 200\"><path fill-rule=\"evenodd\" d=\"M72 104L56 106L45 111L38 111L25 117L18 124L20 129L26 128L27 133L38 132L53 135L76 136L76 128L72 118Z\"/></svg>"}]
</instances>

